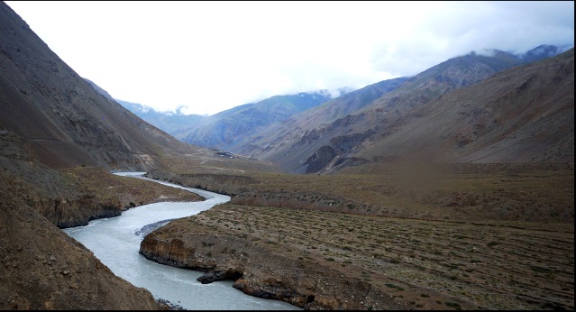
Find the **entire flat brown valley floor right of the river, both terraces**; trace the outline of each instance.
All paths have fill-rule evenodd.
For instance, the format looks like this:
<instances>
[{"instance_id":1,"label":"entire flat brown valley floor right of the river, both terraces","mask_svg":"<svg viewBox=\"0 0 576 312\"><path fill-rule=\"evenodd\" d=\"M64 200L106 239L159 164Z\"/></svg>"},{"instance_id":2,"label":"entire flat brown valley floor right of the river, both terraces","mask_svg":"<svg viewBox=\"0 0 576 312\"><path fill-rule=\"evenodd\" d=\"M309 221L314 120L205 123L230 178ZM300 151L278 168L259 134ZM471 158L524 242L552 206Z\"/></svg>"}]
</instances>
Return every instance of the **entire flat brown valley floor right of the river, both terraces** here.
<instances>
[{"instance_id":1,"label":"entire flat brown valley floor right of the river, both terraces","mask_svg":"<svg viewBox=\"0 0 576 312\"><path fill-rule=\"evenodd\" d=\"M142 253L310 309L574 308L573 167L434 173L254 176Z\"/></svg>"}]
</instances>

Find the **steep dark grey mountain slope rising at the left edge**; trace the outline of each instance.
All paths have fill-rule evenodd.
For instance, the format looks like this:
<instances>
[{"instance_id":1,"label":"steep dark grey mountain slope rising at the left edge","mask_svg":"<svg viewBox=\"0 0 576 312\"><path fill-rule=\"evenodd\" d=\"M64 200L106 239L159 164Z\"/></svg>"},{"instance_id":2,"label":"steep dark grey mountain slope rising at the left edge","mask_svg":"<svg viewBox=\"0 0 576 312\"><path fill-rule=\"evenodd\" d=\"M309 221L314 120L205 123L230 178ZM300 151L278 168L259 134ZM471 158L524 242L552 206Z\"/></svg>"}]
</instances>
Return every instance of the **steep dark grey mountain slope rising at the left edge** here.
<instances>
[{"instance_id":1,"label":"steep dark grey mountain slope rising at the left edge","mask_svg":"<svg viewBox=\"0 0 576 312\"><path fill-rule=\"evenodd\" d=\"M96 93L22 20L3 16L0 127L30 142L39 161L137 170L157 164L162 148L184 148Z\"/></svg>"}]
</instances>

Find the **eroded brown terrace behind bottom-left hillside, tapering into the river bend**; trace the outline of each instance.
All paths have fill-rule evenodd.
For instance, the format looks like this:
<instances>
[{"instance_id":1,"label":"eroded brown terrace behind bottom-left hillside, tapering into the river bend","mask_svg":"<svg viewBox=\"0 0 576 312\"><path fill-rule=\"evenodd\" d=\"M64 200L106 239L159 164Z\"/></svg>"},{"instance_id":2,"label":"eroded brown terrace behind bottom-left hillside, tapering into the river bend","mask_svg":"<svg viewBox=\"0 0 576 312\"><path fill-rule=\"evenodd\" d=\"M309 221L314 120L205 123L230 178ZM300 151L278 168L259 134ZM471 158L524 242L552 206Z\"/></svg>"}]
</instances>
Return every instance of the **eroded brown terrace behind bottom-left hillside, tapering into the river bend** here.
<instances>
[{"instance_id":1,"label":"eroded brown terrace behind bottom-left hillside, tapering into the river bend","mask_svg":"<svg viewBox=\"0 0 576 312\"><path fill-rule=\"evenodd\" d=\"M51 170L37 162L0 157L0 170L6 192L22 198L27 206L60 228L120 216L133 206L202 200L185 190L114 176L93 167Z\"/></svg>"}]
</instances>

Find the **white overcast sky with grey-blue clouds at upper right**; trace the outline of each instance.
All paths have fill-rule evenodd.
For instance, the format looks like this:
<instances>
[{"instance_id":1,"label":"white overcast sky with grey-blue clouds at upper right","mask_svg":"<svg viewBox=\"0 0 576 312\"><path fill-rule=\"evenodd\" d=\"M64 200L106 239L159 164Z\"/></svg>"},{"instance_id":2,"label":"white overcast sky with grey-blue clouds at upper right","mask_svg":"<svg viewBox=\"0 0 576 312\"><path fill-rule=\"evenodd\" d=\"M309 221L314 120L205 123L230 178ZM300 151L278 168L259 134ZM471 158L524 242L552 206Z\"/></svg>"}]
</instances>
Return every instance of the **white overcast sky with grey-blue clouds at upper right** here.
<instances>
[{"instance_id":1,"label":"white overcast sky with grey-blue clouds at upper right","mask_svg":"<svg viewBox=\"0 0 576 312\"><path fill-rule=\"evenodd\" d=\"M574 45L573 1L5 1L78 75L159 112L416 75L472 50Z\"/></svg>"}]
</instances>

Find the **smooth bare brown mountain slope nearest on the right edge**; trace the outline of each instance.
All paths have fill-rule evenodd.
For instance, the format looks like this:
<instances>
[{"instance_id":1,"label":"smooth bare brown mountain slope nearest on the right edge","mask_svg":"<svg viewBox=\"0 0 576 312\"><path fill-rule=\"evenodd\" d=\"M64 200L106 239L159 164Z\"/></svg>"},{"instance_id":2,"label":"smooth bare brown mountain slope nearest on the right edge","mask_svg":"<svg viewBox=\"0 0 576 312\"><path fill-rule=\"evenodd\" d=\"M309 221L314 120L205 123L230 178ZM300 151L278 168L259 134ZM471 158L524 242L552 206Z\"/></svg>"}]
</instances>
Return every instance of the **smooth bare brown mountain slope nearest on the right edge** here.
<instances>
[{"instance_id":1,"label":"smooth bare brown mountain slope nearest on the right edge","mask_svg":"<svg viewBox=\"0 0 576 312\"><path fill-rule=\"evenodd\" d=\"M574 50L507 69L417 107L351 157L573 163Z\"/></svg>"}]
</instances>

